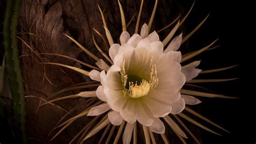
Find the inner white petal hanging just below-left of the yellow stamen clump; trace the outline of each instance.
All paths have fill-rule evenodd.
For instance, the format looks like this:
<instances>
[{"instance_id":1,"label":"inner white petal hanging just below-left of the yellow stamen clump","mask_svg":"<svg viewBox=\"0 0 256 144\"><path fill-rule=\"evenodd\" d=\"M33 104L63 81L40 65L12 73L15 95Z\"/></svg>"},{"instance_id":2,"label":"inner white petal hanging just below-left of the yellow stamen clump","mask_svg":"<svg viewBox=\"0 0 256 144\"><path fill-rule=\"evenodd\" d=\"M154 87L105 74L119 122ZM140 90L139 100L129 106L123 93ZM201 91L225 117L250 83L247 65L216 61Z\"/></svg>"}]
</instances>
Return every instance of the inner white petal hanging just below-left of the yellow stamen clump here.
<instances>
[{"instance_id":1,"label":"inner white petal hanging just below-left of the yellow stamen clump","mask_svg":"<svg viewBox=\"0 0 256 144\"><path fill-rule=\"evenodd\" d=\"M136 99L135 99L136 100ZM120 112L122 118L130 123L134 123L136 121L135 119L135 100L134 99L128 99L127 104L124 105L122 108L122 111Z\"/></svg>"}]
</instances>

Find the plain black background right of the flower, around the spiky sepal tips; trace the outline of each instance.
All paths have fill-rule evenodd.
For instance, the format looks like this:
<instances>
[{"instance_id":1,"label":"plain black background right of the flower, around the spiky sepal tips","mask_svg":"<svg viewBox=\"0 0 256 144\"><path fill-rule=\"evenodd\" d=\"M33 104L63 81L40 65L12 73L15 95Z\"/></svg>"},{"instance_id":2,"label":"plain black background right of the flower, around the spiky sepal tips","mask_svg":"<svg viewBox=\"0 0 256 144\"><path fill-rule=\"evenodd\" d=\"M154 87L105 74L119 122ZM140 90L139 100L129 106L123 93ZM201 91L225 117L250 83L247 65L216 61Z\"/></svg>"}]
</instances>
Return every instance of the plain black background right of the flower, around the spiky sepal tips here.
<instances>
[{"instance_id":1,"label":"plain black background right of the flower, around the spiky sepal tips","mask_svg":"<svg viewBox=\"0 0 256 144\"><path fill-rule=\"evenodd\" d=\"M195 9L191 13L191 23L195 19L203 19L211 13L203 28L190 40L191 45L219 38L220 47L201 54L200 66L218 68L239 65L231 70L208 75L207 78L240 78L226 83L204 85L214 92L239 99L205 99L202 115L223 126L231 134L223 136L203 132L204 143L255 143L255 94L253 78L254 50L250 39L253 38L251 26L252 13L249 12L250 3L246 1L196 1ZM193 20L192 20L193 19ZM197 22L200 22L196 20ZM195 23L195 22L194 22ZM188 29L189 25L188 25ZM193 41L193 42L192 42ZM254 56L255 57L255 56Z\"/></svg>"}]
</instances>

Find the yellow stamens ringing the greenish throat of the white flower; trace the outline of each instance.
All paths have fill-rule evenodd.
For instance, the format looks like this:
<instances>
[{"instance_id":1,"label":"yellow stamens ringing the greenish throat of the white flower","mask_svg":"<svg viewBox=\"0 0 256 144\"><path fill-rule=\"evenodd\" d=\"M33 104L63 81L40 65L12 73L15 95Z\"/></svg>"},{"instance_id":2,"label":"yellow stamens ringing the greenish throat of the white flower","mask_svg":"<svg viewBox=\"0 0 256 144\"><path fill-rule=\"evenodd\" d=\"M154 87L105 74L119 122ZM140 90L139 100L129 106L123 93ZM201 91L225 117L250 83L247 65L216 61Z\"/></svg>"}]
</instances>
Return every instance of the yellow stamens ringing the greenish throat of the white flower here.
<instances>
[{"instance_id":1,"label":"yellow stamens ringing the greenish throat of the white flower","mask_svg":"<svg viewBox=\"0 0 256 144\"><path fill-rule=\"evenodd\" d=\"M142 57L140 57L142 58ZM144 57L145 58L145 57ZM149 57L146 57L147 59ZM143 60L144 63L142 65L147 65L146 63L150 64L151 72L150 72L150 78L149 79L143 79L139 76L138 73L131 73L126 74L125 71L125 60L123 61L123 68L121 71L121 77L124 87L124 94L127 98L141 98L145 95L149 94L151 91L154 90L155 87L158 85L158 77L157 77L157 68L156 64L152 64L152 58L151 60ZM146 61L146 63L145 63ZM129 64L127 66L127 69L129 69Z\"/></svg>"}]
</instances>

